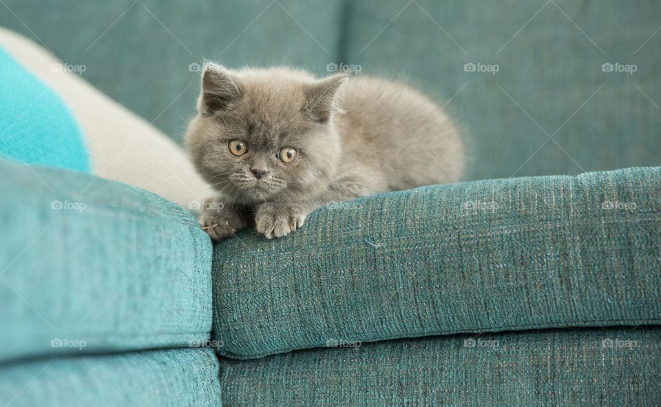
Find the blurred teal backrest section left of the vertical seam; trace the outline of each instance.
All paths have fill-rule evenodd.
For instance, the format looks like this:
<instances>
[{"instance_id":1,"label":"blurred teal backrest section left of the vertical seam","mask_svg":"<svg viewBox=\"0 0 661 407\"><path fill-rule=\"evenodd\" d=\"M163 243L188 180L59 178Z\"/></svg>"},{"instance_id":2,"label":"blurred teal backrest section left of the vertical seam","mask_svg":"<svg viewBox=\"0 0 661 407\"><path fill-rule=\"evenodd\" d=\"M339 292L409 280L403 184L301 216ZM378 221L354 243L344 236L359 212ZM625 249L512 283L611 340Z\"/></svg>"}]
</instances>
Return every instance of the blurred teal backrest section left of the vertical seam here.
<instances>
[{"instance_id":1,"label":"blurred teal backrest section left of the vertical seam","mask_svg":"<svg viewBox=\"0 0 661 407\"><path fill-rule=\"evenodd\" d=\"M15 15L0 4L0 25L42 43L65 63L85 65L83 78L179 142L195 112L196 66L203 58L228 67L293 65L326 74L342 41L337 0L3 3Z\"/></svg>"}]
</instances>

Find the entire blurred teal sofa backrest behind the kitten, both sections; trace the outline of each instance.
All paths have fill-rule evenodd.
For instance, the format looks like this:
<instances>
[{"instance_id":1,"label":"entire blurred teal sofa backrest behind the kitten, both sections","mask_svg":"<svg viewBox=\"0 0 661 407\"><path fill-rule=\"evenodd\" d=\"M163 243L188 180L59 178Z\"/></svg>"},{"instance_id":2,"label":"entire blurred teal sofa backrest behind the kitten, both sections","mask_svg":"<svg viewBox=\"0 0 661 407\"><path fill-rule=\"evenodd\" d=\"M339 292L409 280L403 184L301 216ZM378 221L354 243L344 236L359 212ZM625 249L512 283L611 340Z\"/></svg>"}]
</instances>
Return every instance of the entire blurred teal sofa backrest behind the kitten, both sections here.
<instances>
[{"instance_id":1,"label":"entire blurred teal sofa backrest behind the kitten, both sections","mask_svg":"<svg viewBox=\"0 0 661 407\"><path fill-rule=\"evenodd\" d=\"M189 64L202 57L317 75L344 63L445 105L469 142L467 180L661 163L658 1L4 3L14 14L0 13L0 25L85 65L85 79L179 141L200 86Z\"/></svg>"}]
</instances>

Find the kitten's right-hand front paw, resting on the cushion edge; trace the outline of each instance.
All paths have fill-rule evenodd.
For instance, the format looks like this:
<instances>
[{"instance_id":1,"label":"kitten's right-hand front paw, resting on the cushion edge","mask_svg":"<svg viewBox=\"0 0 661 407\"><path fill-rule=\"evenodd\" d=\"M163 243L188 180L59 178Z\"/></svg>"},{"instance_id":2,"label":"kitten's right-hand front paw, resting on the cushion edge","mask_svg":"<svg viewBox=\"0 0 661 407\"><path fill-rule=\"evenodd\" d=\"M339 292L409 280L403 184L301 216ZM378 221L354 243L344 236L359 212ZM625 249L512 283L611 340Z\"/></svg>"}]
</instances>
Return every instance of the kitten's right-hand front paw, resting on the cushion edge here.
<instances>
[{"instance_id":1,"label":"kitten's right-hand front paw, resting on the cushion edge","mask_svg":"<svg viewBox=\"0 0 661 407\"><path fill-rule=\"evenodd\" d=\"M302 227L306 216L300 205L266 202L255 213L255 225L265 238L280 238Z\"/></svg>"}]
</instances>

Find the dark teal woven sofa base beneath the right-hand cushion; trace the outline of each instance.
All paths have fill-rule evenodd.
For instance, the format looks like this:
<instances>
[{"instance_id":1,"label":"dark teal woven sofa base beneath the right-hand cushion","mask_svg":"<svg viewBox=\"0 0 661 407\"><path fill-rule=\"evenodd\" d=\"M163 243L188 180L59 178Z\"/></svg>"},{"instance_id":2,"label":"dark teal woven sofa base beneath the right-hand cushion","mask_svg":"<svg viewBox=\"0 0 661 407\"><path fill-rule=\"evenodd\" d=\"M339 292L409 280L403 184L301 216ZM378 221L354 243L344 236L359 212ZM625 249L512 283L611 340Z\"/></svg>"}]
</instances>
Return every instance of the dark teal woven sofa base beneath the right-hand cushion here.
<instances>
[{"instance_id":1,"label":"dark teal woven sofa base beneath the right-hand cushion","mask_svg":"<svg viewBox=\"0 0 661 407\"><path fill-rule=\"evenodd\" d=\"M227 359L222 403L657 406L660 335L658 326L452 335Z\"/></svg>"}]
</instances>

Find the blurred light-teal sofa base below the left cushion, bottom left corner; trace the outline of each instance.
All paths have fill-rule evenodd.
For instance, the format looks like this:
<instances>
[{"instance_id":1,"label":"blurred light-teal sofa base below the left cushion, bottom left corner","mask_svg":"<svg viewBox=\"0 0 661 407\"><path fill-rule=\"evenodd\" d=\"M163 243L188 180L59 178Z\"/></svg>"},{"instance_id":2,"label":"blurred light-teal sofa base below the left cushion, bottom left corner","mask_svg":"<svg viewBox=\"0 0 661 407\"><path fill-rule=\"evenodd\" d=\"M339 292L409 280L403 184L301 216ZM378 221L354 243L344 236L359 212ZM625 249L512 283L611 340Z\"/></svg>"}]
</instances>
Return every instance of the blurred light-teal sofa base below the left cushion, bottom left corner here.
<instances>
[{"instance_id":1,"label":"blurred light-teal sofa base below the left cushion, bottom left corner","mask_svg":"<svg viewBox=\"0 0 661 407\"><path fill-rule=\"evenodd\" d=\"M38 359L0 366L3 406L220 406L208 348Z\"/></svg>"}]
</instances>

